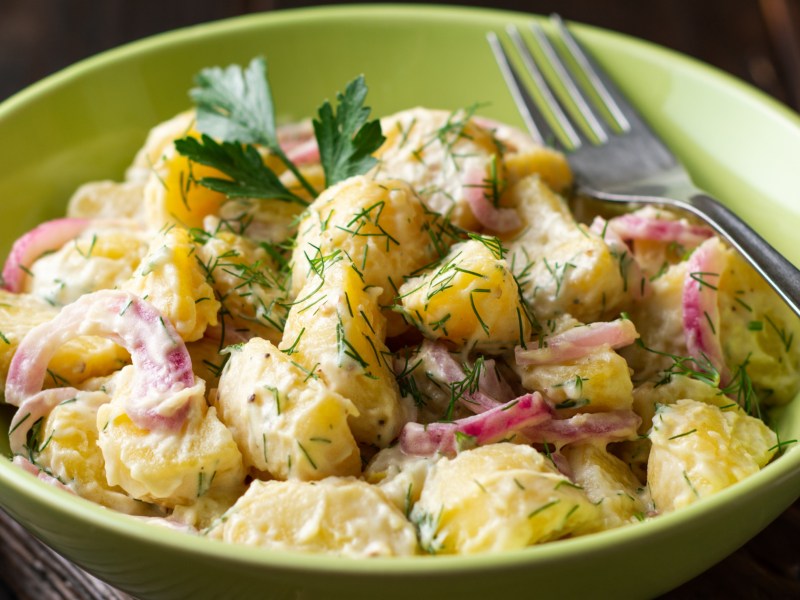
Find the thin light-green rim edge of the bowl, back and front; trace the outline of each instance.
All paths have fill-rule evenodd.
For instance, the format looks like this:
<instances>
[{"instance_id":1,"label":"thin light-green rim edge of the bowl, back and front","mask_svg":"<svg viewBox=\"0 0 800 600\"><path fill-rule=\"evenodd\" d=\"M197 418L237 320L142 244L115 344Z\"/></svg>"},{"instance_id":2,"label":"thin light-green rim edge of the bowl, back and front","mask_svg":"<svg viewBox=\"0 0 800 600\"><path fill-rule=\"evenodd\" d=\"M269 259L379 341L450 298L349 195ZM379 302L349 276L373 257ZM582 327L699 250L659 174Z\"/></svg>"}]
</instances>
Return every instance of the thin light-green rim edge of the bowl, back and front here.
<instances>
[{"instance_id":1,"label":"thin light-green rim edge of the bowl, back and front","mask_svg":"<svg viewBox=\"0 0 800 600\"><path fill-rule=\"evenodd\" d=\"M130 55L146 55L162 51L175 45L182 45L208 35L224 35L241 29L277 27L285 24L301 24L320 19L335 21L346 19L374 20L376 18L398 18L409 20L447 19L465 23L476 20L487 22L507 22L541 19L538 14L479 7L458 7L449 5L375 4L375 5L332 5L308 8L275 10L229 17L198 25L167 31L147 38L132 41L83 59L13 94L0 103L0 120L13 117L13 113L28 102L46 95L53 89L80 78L85 73L102 68ZM491 17L487 19L487 17ZM648 60L669 63L671 68L691 72L701 77L710 77L714 85L723 86L731 93L744 97L759 110L766 110L782 119L786 125L794 127L800 136L800 115L776 99L757 88L709 66L696 59L626 34L599 27L571 22L577 32L585 34L587 41L628 47L646 55ZM489 25L487 25L487 29ZM798 400L795 399L794 402ZM794 444L796 447L797 444ZM524 565L536 567L562 558L578 558L608 548L633 546L668 533L672 528L683 524L691 526L700 523L707 515L729 504L763 493L763 487L777 485L787 479L798 482L800 495L800 450L790 447L780 460L776 460L763 470L739 482L732 488L703 499L702 502L685 507L677 512L661 515L655 519L636 523L632 527L598 532L573 539L558 540L547 544L531 546L520 550L501 553L478 554L470 556L437 556L429 560L425 556L373 558L353 560L332 555L307 554L301 552L276 551L236 544L220 543L216 540L187 535L161 527L143 526L140 520L116 513L83 498L71 495L36 479L10 461L0 461L0 484L19 494L32 498L39 506L54 514L89 521L114 534L132 537L142 543L158 544L162 547L179 550L183 553L202 555L215 561L225 561L243 566L273 567L284 571L325 572L338 574L377 575L377 574L423 574L443 572L457 574L464 571L497 570ZM23 524L25 525L25 524Z\"/></svg>"}]
</instances>

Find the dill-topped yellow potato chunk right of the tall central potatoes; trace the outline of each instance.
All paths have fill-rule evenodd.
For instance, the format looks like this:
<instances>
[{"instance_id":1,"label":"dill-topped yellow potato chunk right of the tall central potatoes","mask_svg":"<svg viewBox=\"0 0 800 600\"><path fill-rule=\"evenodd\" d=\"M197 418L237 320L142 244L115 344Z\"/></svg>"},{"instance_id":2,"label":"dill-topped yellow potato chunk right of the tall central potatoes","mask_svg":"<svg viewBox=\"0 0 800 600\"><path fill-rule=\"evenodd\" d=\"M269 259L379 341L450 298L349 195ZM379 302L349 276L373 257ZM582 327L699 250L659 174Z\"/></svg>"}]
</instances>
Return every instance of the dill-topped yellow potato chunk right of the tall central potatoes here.
<instances>
[{"instance_id":1,"label":"dill-topped yellow potato chunk right of the tall central potatoes","mask_svg":"<svg viewBox=\"0 0 800 600\"><path fill-rule=\"evenodd\" d=\"M400 288L406 319L457 348L500 353L524 343L531 321L494 238L456 244L439 263Z\"/></svg>"}]
</instances>

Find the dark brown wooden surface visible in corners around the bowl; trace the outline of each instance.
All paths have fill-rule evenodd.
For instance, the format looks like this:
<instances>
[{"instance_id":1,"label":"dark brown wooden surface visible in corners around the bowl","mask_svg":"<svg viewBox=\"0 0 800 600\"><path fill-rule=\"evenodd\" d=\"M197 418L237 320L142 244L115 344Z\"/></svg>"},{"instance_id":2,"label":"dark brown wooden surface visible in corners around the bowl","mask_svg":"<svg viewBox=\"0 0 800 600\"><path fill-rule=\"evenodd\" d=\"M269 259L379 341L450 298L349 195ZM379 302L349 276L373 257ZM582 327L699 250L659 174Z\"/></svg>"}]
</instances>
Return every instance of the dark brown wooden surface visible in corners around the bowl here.
<instances>
[{"instance_id":1,"label":"dark brown wooden surface visible in corners around the bowl","mask_svg":"<svg viewBox=\"0 0 800 600\"><path fill-rule=\"evenodd\" d=\"M330 3L0 0L0 100L82 58L147 35L248 12L314 4ZM796 0L457 4L539 14L557 11L567 19L693 56L800 110L800 3ZM2 512L0 529L0 600L127 598L52 553ZM664 598L800 598L800 501L743 548Z\"/></svg>"}]
</instances>

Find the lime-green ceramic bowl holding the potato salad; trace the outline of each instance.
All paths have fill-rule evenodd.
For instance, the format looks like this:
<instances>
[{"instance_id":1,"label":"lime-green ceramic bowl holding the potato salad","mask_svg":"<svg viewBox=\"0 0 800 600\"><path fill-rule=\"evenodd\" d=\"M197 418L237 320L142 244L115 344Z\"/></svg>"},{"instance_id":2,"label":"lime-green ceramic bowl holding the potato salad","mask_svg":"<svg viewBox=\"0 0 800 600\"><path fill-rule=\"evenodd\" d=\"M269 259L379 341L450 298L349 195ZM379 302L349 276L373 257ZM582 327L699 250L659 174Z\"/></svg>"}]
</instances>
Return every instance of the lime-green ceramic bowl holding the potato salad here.
<instances>
[{"instance_id":1,"label":"lime-green ceramic bowl holding the potato salad","mask_svg":"<svg viewBox=\"0 0 800 600\"><path fill-rule=\"evenodd\" d=\"M0 106L1 250L62 214L80 183L121 178L147 130L188 106L192 76L205 66L266 56L286 118L312 114L363 72L376 114L486 102L482 112L521 125L485 32L530 18L419 6L276 12L157 36L77 64ZM697 183L800 262L800 118L682 56L589 27L575 32ZM800 438L800 401L777 419L781 439ZM355 561L228 546L150 526L0 460L5 510L67 558L141 598L653 596L725 557L798 496L800 449L791 449L712 498L620 530L490 556Z\"/></svg>"}]
</instances>

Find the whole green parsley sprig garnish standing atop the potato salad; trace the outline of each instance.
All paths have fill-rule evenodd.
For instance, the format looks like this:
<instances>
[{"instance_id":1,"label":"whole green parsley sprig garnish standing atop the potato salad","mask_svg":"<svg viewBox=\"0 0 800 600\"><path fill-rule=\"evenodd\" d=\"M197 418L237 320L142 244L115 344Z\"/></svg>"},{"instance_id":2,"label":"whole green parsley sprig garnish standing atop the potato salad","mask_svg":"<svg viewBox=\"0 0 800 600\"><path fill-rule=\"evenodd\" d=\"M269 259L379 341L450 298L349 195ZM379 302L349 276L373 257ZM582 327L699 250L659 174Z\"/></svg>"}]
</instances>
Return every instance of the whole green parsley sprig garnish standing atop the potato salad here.
<instances>
[{"instance_id":1,"label":"whole green parsley sprig garnish standing atop the potato salad","mask_svg":"<svg viewBox=\"0 0 800 600\"><path fill-rule=\"evenodd\" d=\"M278 143L275 106L267 77L267 62L254 58L246 68L238 65L203 69L195 78L190 96L197 106L201 138L187 136L175 141L176 150L191 161L213 167L226 175L203 177L200 185L231 198L265 198L307 205L264 164L256 146L268 149L297 178L312 197L316 190L289 160ZM377 162L371 155L384 142L380 121L368 122L364 106L364 77L351 81L337 94L334 112L329 102L319 108L314 133L326 186L367 172ZM219 140L219 141L218 141Z\"/></svg>"}]
</instances>

